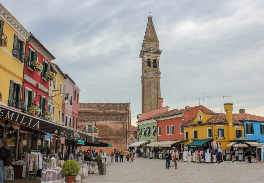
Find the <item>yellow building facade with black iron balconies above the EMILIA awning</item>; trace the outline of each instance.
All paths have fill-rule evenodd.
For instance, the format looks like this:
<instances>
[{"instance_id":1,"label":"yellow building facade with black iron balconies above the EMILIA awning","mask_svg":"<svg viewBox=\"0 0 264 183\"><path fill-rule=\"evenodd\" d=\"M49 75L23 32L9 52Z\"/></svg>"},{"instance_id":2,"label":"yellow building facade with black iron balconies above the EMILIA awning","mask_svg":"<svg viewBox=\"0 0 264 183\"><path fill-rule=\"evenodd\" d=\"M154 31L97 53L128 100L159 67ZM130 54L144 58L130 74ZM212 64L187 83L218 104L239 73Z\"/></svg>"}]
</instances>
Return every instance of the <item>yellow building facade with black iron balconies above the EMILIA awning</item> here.
<instances>
[{"instance_id":1,"label":"yellow building facade with black iron balconies above the EMILIA awning","mask_svg":"<svg viewBox=\"0 0 264 183\"><path fill-rule=\"evenodd\" d=\"M25 44L30 33L0 3L1 105L21 109Z\"/></svg>"}]
</instances>

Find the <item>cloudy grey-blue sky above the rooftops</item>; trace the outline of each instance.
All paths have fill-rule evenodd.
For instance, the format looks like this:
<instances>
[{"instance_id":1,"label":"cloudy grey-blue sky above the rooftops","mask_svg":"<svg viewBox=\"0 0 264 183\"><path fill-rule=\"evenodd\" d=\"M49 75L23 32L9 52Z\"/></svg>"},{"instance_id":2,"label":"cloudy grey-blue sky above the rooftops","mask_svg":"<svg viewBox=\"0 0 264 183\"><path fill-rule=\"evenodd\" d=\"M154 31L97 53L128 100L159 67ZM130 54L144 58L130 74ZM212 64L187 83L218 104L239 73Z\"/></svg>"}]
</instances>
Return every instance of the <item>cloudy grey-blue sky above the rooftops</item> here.
<instances>
[{"instance_id":1,"label":"cloudy grey-blue sky above the rooftops","mask_svg":"<svg viewBox=\"0 0 264 183\"><path fill-rule=\"evenodd\" d=\"M214 112L232 96L225 102L234 103L234 113L264 116L263 1L0 2L81 88L80 102L130 102L135 124L150 10L162 50L163 106L196 106L210 92L204 105Z\"/></svg>"}]
</instances>

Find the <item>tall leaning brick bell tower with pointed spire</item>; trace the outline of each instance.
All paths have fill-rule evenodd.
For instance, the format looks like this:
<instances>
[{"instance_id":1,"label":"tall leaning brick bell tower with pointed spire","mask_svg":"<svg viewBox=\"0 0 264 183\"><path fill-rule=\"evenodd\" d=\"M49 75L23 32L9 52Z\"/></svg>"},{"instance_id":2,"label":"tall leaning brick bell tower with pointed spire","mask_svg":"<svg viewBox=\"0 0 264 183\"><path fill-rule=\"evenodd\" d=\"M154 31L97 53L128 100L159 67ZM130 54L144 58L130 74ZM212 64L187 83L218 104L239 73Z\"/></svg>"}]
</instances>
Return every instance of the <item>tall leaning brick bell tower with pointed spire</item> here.
<instances>
[{"instance_id":1,"label":"tall leaning brick bell tower with pointed spire","mask_svg":"<svg viewBox=\"0 0 264 183\"><path fill-rule=\"evenodd\" d=\"M152 22L148 16L148 24L140 50L142 59L142 113L158 109L158 98L161 98L161 72L159 71L159 40Z\"/></svg>"}]
</instances>

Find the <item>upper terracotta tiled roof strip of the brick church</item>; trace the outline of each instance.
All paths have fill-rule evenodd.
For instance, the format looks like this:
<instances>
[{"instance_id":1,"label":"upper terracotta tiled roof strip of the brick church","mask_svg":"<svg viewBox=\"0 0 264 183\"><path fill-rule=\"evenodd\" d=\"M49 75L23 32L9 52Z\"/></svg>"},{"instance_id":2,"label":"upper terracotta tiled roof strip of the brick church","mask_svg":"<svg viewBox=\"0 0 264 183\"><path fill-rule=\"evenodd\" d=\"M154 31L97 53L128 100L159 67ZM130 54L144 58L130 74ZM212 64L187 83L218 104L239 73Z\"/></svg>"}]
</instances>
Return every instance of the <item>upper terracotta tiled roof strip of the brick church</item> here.
<instances>
[{"instance_id":1,"label":"upper terracotta tiled roof strip of the brick church","mask_svg":"<svg viewBox=\"0 0 264 183\"><path fill-rule=\"evenodd\" d=\"M129 103L79 103L79 109L129 109Z\"/></svg>"}]
</instances>

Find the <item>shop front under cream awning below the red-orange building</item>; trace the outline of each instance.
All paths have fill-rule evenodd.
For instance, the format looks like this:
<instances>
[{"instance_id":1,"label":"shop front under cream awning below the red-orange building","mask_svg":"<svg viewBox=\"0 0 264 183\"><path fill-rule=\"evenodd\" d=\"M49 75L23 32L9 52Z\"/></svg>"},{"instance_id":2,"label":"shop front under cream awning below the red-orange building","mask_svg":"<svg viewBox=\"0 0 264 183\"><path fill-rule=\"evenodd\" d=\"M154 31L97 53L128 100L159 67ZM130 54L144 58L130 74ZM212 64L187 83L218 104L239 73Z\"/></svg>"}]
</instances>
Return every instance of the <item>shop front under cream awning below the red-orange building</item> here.
<instances>
[{"instance_id":1,"label":"shop front under cream awning below the red-orange building","mask_svg":"<svg viewBox=\"0 0 264 183\"><path fill-rule=\"evenodd\" d=\"M147 147L150 148L150 158L165 158L167 150L177 149L180 152L182 140L176 141L156 141L153 143L147 144ZM180 154L180 153L179 153Z\"/></svg>"}]
</instances>

